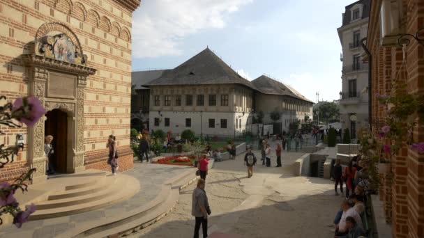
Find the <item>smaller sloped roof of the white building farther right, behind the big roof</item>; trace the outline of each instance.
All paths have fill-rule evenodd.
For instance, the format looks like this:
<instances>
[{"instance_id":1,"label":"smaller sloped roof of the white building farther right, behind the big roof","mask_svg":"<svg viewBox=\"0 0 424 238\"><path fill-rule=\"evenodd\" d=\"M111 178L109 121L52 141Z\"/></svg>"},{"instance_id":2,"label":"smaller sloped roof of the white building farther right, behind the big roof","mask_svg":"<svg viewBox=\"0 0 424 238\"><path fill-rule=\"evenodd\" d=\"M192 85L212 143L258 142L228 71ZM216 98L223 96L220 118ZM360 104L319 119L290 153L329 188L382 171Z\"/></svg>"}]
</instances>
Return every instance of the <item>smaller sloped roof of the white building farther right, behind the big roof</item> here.
<instances>
[{"instance_id":1,"label":"smaller sloped roof of the white building farther right, behind the big roof","mask_svg":"<svg viewBox=\"0 0 424 238\"><path fill-rule=\"evenodd\" d=\"M298 93L298 91L296 91L291 86L282 84L279 81L271 79L270 77L267 77L265 75L262 75L261 77L253 80L252 84L256 86L259 92L264 94L287 95L290 97L298 98L300 100L314 103L311 100L308 100L308 98L306 98L305 96L301 95L301 93Z\"/></svg>"}]
</instances>

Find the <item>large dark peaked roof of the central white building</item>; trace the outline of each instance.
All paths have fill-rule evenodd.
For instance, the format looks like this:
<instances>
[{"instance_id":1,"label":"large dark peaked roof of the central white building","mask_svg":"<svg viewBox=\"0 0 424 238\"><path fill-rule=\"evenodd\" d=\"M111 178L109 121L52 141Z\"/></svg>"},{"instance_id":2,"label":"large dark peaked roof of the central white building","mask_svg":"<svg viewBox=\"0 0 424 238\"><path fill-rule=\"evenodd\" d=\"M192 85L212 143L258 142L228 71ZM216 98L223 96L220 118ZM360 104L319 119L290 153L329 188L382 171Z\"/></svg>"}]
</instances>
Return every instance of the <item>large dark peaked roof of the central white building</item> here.
<instances>
[{"instance_id":1,"label":"large dark peaked roof of the central white building","mask_svg":"<svg viewBox=\"0 0 424 238\"><path fill-rule=\"evenodd\" d=\"M204 49L174 70L163 72L161 77L150 81L145 86L198 84L241 84L256 89L250 81L237 74L209 48Z\"/></svg>"}]
</instances>

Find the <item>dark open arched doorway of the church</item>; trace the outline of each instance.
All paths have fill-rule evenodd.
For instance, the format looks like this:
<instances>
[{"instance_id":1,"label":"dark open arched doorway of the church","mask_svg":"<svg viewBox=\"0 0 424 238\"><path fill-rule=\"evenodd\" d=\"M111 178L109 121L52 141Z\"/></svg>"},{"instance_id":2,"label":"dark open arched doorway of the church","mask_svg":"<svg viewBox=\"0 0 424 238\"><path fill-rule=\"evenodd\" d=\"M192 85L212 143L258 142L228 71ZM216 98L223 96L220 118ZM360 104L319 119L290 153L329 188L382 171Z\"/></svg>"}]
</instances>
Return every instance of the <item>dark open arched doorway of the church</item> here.
<instances>
[{"instance_id":1,"label":"dark open arched doorway of the church","mask_svg":"<svg viewBox=\"0 0 424 238\"><path fill-rule=\"evenodd\" d=\"M58 173L68 172L68 115L60 109L48 111L45 120L45 136L53 136L52 164Z\"/></svg>"}]
</instances>

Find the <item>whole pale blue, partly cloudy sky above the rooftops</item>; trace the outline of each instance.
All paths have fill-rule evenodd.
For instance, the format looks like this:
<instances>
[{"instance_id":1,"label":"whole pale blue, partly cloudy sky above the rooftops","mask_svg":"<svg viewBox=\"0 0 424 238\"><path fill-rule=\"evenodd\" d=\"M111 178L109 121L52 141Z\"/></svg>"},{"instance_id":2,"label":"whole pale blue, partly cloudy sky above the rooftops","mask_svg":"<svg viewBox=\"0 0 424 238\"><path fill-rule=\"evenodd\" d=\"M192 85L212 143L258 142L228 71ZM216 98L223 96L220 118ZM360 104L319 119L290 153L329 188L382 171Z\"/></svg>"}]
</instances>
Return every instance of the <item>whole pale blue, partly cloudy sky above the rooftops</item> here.
<instances>
[{"instance_id":1,"label":"whole pale blue, partly cloudy sky above the rooftops","mask_svg":"<svg viewBox=\"0 0 424 238\"><path fill-rule=\"evenodd\" d=\"M209 47L249 80L266 74L312 101L338 100L347 0L143 0L132 70L175 68Z\"/></svg>"}]
</instances>

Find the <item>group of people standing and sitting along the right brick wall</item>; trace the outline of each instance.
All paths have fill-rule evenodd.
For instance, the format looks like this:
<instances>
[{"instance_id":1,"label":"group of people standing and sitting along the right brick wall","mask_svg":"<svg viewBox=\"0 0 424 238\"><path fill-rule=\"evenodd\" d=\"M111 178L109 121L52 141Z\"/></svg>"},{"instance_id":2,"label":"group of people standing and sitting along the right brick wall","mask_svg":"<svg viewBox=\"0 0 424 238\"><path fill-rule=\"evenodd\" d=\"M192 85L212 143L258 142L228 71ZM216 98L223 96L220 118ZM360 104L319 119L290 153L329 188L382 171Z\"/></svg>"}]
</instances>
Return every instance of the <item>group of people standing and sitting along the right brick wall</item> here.
<instances>
[{"instance_id":1,"label":"group of people standing and sitting along the right brick wall","mask_svg":"<svg viewBox=\"0 0 424 238\"><path fill-rule=\"evenodd\" d=\"M356 156L349 161L348 166L342 168L340 159L336 159L332 177L335 180L335 195L339 195L340 186L340 193L345 197L331 224L335 228L335 237L358 238L366 235L361 217L366 209L365 191L368 190L369 184L367 163L360 156ZM343 183L346 184L345 193Z\"/></svg>"}]
</instances>

